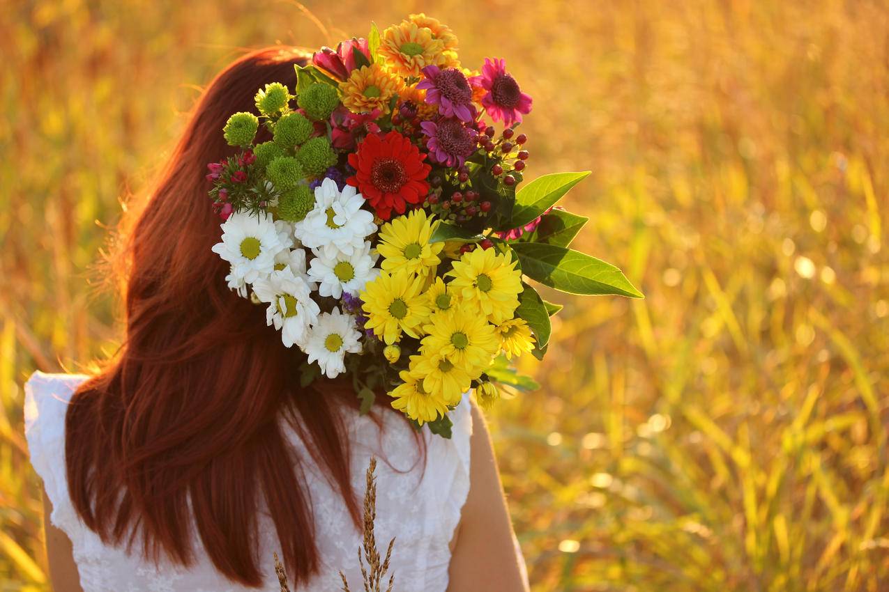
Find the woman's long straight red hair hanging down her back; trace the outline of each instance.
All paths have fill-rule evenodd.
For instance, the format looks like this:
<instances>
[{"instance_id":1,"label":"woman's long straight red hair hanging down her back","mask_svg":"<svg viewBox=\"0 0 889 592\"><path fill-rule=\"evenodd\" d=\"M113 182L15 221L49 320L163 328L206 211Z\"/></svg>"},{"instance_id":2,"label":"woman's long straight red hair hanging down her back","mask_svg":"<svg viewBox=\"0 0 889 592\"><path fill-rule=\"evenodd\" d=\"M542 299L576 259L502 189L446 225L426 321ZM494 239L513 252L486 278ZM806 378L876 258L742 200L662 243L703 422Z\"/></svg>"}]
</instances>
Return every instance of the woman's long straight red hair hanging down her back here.
<instances>
[{"instance_id":1,"label":"woman's long straight red hair hanging down her back","mask_svg":"<svg viewBox=\"0 0 889 592\"><path fill-rule=\"evenodd\" d=\"M102 541L188 565L196 535L219 572L246 586L262 584L270 559L256 556L260 504L292 577L308 580L319 566L302 459L282 418L359 517L337 413L354 392L329 381L301 388L295 352L262 307L226 287L227 264L211 251L220 219L204 173L232 154L222 127L254 110L264 84L294 88L304 61L256 51L204 91L144 208L124 218L124 344L76 391L66 419L71 501Z\"/></svg>"}]
</instances>

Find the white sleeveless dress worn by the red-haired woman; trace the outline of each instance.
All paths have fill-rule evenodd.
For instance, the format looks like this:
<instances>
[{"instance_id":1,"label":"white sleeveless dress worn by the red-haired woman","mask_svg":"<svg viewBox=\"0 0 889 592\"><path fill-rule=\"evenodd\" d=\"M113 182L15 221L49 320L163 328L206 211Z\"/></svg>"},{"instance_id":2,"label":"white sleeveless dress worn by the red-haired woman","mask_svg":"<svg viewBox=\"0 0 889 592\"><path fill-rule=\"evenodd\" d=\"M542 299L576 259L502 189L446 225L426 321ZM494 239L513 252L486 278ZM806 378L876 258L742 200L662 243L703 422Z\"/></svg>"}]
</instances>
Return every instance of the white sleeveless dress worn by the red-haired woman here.
<instances>
[{"instance_id":1,"label":"white sleeveless dress worn by the red-haired woman","mask_svg":"<svg viewBox=\"0 0 889 592\"><path fill-rule=\"evenodd\" d=\"M141 560L138 553L130 556L124 549L108 547L79 520L68 498L65 479L65 412L68 400L83 375L49 375L40 372L28 379L25 386L25 434L31 464L44 481L46 494L52 501L52 524L68 534L80 572L84 592L235 592L255 590L243 588L226 580L213 569L199 541L195 542L196 563L189 569L173 564L155 565ZM386 458L377 464L378 544L388 544L396 536L391 572L399 592L445 592L448 564L451 560L449 542L460 520L461 508L469 493L469 436L472 417L469 400L453 412L453 438L431 437L428 441L428 462L425 473L422 463L412 469L417 445L411 428L395 414L387 414L383 432L367 417L349 414L347 420L352 443L352 485L361 499L364 494L364 472L371 455ZM294 444L304 450L295 436ZM381 446L380 446L381 445ZM308 458L308 455L305 456ZM322 557L319 574L300 591L339 590L342 570L350 587L362 589L361 572L356 550L361 537L352 524L341 501L314 465L307 470L316 518L318 549ZM278 592L272 552L279 550L275 529L267 516L260 514L259 557L265 570L263 590ZM385 549L381 549L383 552ZM293 589L293 587L291 587Z\"/></svg>"}]
</instances>

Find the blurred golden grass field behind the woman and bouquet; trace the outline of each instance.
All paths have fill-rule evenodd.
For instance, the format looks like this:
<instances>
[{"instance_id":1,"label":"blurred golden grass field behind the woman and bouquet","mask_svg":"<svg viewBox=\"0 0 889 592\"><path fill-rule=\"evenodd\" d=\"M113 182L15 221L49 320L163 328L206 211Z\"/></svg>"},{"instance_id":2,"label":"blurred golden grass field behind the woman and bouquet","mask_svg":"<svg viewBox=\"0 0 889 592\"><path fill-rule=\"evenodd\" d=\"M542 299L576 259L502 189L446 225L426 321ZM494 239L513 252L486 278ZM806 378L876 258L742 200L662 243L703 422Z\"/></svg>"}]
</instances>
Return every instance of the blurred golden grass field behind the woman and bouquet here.
<instances>
[{"instance_id":1,"label":"blurred golden grass field behind the woman and bouquet","mask_svg":"<svg viewBox=\"0 0 889 592\"><path fill-rule=\"evenodd\" d=\"M306 5L4 3L0 590L47 589L20 384L113 348L89 269L201 84L420 11L507 59L529 177L593 170L581 247L647 296L552 296L541 391L492 414L533 590L889 589L886 5Z\"/></svg>"}]
</instances>

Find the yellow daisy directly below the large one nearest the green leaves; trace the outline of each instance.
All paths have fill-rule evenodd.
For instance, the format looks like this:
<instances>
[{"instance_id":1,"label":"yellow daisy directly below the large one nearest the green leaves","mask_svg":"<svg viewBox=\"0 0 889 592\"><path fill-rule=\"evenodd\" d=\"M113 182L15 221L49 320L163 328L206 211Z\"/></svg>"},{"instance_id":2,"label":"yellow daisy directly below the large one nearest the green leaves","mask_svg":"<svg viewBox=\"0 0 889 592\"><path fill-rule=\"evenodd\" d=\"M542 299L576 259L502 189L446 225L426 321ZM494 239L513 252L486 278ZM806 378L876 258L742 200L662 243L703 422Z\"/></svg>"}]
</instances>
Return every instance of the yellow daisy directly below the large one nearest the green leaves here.
<instances>
[{"instance_id":1,"label":"yellow daisy directly below the large one nearest the green leaves","mask_svg":"<svg viewBox=\"0 0 889 592\"><path fill-rule=\"evenodd\" d=\"M500 339L484 315L462 305L429 318L423 329L421 353L447 356L457 366L477 378L491 364L500 349Z\"/></svg>"}]
</instances>

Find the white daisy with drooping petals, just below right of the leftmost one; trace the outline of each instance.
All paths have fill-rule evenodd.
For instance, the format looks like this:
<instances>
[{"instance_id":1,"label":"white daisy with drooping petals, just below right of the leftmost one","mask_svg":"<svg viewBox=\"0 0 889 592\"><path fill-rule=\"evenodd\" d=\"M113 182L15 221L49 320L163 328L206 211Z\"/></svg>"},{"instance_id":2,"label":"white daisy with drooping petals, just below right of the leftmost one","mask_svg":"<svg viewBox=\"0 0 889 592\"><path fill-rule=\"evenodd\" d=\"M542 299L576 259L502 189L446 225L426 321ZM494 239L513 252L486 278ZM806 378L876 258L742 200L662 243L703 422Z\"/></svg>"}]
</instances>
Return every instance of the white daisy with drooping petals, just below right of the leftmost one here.
<instances>
[{"instance_id":1,"label":"white daisy with drooping petals, just below right of the leftmost one","mask_svg":"<svg viewBox=\"0 0 889 592\"><path fill-rule=\"evenodd\" d=\"M289 267L271 272L268 278L253 283L253 293L260 302L268 303L266 324L274 324L281 331L286 347L296 343L303 346L308 328L315 322L318 305L309 295L308 284L296 277Z\"/></svg>"}]
</instances>

